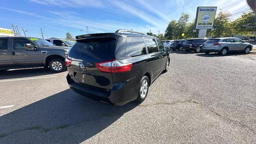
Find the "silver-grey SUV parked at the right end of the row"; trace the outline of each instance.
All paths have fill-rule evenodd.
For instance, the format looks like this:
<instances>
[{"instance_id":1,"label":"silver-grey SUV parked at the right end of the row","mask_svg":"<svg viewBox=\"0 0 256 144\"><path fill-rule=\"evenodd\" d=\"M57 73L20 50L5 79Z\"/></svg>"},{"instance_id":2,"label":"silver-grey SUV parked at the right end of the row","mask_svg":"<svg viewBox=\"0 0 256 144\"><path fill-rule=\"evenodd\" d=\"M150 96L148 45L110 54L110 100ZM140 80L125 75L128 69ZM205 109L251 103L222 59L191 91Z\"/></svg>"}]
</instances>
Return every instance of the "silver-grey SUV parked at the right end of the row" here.
<instances>
[{"instance_id":1,"label":"silver-grey SUV parked at the right end of the row","mask_svg":"<svg viewBox=\"0 0 256 144\"><path fill-rule=\"evenodd\" d=\"M252 48L252 44L239 38L213 38L204 43L202 52L206 54L218 52L221 55L225 55L228 52L244 52L248 54Z\"/></svg>"}]
</instances>

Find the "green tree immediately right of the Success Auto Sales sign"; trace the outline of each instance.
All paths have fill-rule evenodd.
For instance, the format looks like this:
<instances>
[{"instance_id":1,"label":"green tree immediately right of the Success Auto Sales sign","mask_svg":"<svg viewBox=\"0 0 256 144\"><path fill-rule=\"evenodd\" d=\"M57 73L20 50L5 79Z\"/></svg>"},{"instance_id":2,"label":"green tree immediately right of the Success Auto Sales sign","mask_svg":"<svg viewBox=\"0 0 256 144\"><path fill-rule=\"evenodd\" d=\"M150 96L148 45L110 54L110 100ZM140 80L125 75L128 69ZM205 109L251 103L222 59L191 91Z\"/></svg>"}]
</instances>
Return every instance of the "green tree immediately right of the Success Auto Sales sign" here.
<instances>
[{"instance_id":1,"label":"green tree immediately right of the Success Auto Sales sign","mask_svg":"<svg viewBox=\"0 0 256 144\"><path fill-rule=\"evenodd\" d=\"M208 30L208 33L212 33L213 37L227 37L232 36L231 28L231 14L230 12L220 11L218 16L214 20L213 29Z\"/></svg>"}]
</instances>

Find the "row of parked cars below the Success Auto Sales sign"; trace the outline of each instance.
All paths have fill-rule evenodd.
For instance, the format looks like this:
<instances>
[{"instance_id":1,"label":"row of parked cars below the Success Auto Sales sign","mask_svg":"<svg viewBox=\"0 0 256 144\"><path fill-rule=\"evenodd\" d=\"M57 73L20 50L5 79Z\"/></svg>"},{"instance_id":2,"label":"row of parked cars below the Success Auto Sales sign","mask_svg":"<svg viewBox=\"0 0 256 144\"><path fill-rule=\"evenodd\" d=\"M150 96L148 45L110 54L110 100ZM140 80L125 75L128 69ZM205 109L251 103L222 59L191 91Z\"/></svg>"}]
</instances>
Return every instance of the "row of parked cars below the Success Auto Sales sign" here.
<instances>
[{"instance_id":1,"label":"row of parked cars below the Success Auto Sales sign","mask_svg":"<svg viewBox=\"0 0 256 144\"><path fill-rule=\"evenodd\" d=\"M169 40L171 42L171 40ZM191 38L187 40L172 40L165 44L172 50L186 50L186 52L218 52L225 55L228 52L244 52L248 54L253 46L239 38Z\"/></svg>"}]
</instances>

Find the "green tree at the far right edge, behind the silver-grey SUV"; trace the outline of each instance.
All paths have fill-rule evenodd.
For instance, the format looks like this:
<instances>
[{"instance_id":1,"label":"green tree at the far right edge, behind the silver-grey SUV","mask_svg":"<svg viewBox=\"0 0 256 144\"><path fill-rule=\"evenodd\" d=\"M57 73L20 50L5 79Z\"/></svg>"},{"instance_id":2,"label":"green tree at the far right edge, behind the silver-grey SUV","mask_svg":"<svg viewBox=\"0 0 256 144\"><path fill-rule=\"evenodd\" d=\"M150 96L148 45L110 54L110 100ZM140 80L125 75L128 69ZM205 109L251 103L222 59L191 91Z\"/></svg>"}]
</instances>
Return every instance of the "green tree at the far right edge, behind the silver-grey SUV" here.
<instances>
[{"instance_id":1,"label":"green tree at the far right edge, behind the silver-grey SUV","mask_svg":"<svg viewBox=\"0 0 256 144\"><path fill-rule=\"evenodd\" d=\"M246 14L242 14L240 18L237 18L231 23L234 34L253 36L256 33L256 14L251 11Z\"/></svg>"}]
</instances>

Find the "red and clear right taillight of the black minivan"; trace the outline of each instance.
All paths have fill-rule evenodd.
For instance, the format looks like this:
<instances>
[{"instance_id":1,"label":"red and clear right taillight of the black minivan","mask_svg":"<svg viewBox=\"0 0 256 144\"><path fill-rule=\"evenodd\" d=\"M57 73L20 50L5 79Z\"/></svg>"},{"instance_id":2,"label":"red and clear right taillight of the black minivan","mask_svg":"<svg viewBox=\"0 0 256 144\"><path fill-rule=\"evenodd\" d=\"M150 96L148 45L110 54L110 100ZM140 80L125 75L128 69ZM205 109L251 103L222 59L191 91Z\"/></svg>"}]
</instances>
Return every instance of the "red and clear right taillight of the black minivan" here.
<instances>
[{"instance_id":1,"label":"red and clear right taillight of the black minivan","mask_svg":"<svg viewBox=\"0 0 256 144\"><path fill-rule=\"evenodd\" d=\"M119 72L127 72L132 69L132 63L122 64L117 60L99 62L99 63L96 63L95 65L102 72L119 73Z\"/></svg>"}]
</instances>

